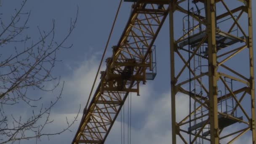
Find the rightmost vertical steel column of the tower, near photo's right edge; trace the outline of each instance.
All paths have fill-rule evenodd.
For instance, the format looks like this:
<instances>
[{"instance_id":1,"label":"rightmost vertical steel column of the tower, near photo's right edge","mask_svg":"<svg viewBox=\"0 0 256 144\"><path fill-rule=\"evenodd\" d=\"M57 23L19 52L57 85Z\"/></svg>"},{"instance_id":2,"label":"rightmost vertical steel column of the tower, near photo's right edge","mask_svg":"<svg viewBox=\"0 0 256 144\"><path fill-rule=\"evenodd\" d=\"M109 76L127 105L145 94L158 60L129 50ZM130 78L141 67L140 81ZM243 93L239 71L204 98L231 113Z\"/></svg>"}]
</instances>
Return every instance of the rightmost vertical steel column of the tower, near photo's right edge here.
<instances>
[{"instance_id":1,"label":"rightmost vertical steel column of the tower, near photo's right edge","mask_svg":"<svg viewBox=\"0 0 256 144\"><path fill-rule=\"evenodd\" d=\"M251 0L248 0L248 48L250 56L250 88L251 88L251 131L252 141L256 144L256 129L255 129L255 82L254 82L254 63L253 63L253 21L252 21L252 5Z\"/></svg>"}]
</instances>

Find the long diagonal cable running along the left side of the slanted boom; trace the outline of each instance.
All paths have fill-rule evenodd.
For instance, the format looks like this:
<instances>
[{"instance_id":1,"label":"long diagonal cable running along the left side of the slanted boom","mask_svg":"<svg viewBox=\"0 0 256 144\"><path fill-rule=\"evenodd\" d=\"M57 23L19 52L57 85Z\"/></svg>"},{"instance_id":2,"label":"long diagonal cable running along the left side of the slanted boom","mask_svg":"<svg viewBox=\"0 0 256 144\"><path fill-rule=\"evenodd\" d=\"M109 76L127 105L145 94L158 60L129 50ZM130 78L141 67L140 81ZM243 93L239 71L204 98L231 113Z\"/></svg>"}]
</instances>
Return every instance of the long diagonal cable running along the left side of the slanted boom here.
<instances>
[{"instance_id":1,"label":"long diagonal cable running along the left side of the slanted boom","mask_svg":"<svg viewBox=\"0 0 256 144\"><path fill-rule=\"evenodd\" d=\"M105 49L104 49L103 55L102 55L102 57L101 57L101 62L100 62L100 64L99 64L99 68L98 68L98 70L97 70L96 77L95 77L95 79L94 79L94 81L93 81L93 86L92 86L92 88L91 88L91 92L90 92L88 101L87 101L87 103L86 103L85 110L87 110L88 103L89 103L89 101L90 101L90 99L91 99L91 94L92 94L92 92L93 92L94 85L95 85L96 80L97 80L97 78L98 78L99 70L100 70L100 68L101 68L102 61L103 61L104 56L105 56L105 54L106 54L106 51L107 51L107 47L108 47L108 45L109 45L110 38L111 38L111 35L112 35L112 32L113 32L113 29L114 29L114 27L115 27L115 23L116 23L116 20L117 20L117 16L118 16L118 13L119 13L120 8L121 8L121 5L122 5L122 1L123 1L123 0L120 0L120 3L119 3L119 5L118 5L117 13L116 13L116 15L115 15L115 20L114 20L114 22L113 22L113 24L112 24L112 28L111 28L110 33L109 33L109 37L108 37L108 40L107 40L107 44L106 44L106 47L105 47Z\"/></svg>"}]
</instances>

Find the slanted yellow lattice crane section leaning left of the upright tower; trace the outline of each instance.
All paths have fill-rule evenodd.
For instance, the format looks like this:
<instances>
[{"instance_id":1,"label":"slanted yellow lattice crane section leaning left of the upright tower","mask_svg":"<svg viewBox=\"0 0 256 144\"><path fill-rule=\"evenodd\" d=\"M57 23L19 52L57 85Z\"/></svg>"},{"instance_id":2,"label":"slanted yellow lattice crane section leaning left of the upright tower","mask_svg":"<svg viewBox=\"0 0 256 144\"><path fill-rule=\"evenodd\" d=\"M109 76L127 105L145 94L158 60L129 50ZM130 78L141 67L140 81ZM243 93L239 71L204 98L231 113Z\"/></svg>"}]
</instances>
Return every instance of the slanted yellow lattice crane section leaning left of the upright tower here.
<instances>
[{"instance_id":1,"label":"slanted yellow lattice crane section leaning left of the upright tower","mask_svg":"<svg viewBox=\"0 0 256 144\"><path fill-rule=\"evenodd\" d=\"M139 95L140 83L153 80L156 73L153 43L168 15L168 0L139 0L88 108L85 108L73 144L103 144L125 99L131 92Z\"/></svg>"}]
</instances>

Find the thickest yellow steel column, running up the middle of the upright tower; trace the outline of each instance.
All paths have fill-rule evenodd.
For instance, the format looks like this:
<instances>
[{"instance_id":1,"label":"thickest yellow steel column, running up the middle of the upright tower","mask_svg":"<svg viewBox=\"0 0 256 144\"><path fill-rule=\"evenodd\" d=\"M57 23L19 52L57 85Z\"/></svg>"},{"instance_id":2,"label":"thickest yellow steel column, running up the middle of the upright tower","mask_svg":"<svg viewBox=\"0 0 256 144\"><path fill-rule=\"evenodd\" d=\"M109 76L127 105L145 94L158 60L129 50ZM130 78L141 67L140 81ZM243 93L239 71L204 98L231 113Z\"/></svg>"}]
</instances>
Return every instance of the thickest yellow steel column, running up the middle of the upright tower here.
<instances>
[{"instance_id":1,"label":"thickest yellow steel column, running up the middle of the upright tower","mask_svg":"<svg viewBox=\"0 0 256 144\"><path fill-rule=\"evenodd\" d=\"M211 144L219 144L218 125L218 87L217 87L217 59L216 59L216 5L215 0L206 0L206 31L208 35L208 69L209 69L209 119Z\"/></svg>"}]
</instances>

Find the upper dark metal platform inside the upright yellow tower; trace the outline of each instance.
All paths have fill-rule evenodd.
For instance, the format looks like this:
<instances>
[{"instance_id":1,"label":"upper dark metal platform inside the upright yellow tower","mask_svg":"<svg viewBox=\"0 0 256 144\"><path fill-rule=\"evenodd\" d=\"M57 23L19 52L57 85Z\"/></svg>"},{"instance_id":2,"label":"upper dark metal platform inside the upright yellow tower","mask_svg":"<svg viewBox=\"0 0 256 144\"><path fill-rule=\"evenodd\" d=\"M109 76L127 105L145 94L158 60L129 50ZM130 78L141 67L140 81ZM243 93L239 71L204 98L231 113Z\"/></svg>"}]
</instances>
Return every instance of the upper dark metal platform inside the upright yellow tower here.
<instances>
[{"instance_id":1,"label":"upper dark metal platform inside the upright yellow tower","mask_svg":"<svg viewBox=\"0 0 256 144\"><path fill-rule=\"evenodd\" d=\"M178 44L179 47L184 47L186 45L188 45L188 43L190 42L191 46L197 46L201 40L203 40L203 38L206 36L206 31L203 31L199 34L195 34L195 35L191 35L187 40L182 41L181 43ZM217 49L221 49L221 48L226 48L229 45L233 45L235 43L238 42L243 42L244 37L236 37L234 35L231 34L227 34L225 32L221 32L220 30L216 31L216 43L217 43ZM205 41L205 43L208 43L207 41Z\"/></svg>"}]
</instances>

